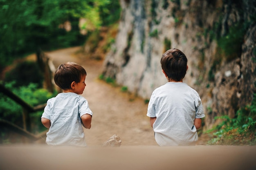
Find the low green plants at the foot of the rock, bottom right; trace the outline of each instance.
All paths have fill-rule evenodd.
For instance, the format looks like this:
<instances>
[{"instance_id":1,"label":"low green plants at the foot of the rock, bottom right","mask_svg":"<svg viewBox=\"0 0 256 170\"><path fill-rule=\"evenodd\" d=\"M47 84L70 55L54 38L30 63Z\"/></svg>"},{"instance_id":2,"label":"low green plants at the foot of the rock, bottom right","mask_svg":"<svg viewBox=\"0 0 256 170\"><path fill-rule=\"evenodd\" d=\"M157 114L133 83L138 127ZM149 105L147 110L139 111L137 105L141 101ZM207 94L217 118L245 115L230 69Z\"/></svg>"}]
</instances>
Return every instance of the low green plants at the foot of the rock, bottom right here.
<instances>
[{"instance_id":1,"label":"low green plants at the foot of the rock, bottom right","mask_svg":"<svg viewBox=\"0 0 256 170\"><path fill-rule=\"evenodd\" d=\"M222 122L207 131L214 135L209 144L256 145L256 94L252 104L238 110L235 118L224 115L215 119Z\"/></svg>"}]
</instances>

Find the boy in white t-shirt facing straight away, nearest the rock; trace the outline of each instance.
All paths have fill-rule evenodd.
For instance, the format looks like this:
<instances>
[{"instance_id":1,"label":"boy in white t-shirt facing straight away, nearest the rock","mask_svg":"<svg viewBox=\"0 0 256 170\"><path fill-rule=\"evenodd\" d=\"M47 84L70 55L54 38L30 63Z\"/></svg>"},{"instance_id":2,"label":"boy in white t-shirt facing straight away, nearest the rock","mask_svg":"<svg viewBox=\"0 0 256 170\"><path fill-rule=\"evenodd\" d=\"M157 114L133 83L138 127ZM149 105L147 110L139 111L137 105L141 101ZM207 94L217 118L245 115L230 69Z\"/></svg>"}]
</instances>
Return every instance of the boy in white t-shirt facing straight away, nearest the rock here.
<instances>
[{"instance_id":1,"label":"boy in white t-shirt facing straight away, nearest the rock","mask_svg":"<svg viewBox=\"0 0 256 170\"><path fill-rule=\"evenodd\" d=\"M153 91L147 112L155 140L159 146L195 145L205 115L198 93L182 82L187 58L182 51L170 49L162 55L161 66L168 82Z\"/></svg>"}]
</instances>

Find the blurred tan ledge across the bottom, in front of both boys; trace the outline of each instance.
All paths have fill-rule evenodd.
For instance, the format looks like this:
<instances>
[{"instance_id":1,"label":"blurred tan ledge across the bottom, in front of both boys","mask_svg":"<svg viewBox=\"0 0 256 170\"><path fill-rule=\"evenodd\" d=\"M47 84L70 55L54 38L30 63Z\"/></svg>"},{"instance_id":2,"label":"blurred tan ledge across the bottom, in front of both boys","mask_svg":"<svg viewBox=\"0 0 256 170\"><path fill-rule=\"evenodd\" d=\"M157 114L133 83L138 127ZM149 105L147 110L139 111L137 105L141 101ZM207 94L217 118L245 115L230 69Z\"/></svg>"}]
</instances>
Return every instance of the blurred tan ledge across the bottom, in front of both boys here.
<instances>
[{"instance_id":1,"label":"blurred tan ledge across the bottom, in front of both boys","mask_svg":"<svg viewBox=\"0 0 256 170\"><path fill-rule=\"evenodd\" d=\"M256 146L0 146L0 170L255 170Z\"/></svg>"}]
</instances>

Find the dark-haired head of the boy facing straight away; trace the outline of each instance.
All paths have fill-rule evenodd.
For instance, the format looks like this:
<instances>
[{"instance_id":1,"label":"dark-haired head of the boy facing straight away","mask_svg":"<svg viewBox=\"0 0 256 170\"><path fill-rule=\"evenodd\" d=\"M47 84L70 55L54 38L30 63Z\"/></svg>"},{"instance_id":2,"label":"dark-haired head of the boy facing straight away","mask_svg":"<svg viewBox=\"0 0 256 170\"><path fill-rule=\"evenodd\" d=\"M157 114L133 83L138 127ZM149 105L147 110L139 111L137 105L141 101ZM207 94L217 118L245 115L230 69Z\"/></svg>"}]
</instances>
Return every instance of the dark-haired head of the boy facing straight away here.
<instances>
[{"instance_id":1,"label":"dark-haired head of the boy facing straight away","mask_svg":"<svg viewBox=\"0 0 256 170\"><path fill-rule=\"evenodd\" d=\"M187 58L182 51L170 49L161 58L161 66L169 80L181 81L187 70Z\"/></svg>"}]
</instances>

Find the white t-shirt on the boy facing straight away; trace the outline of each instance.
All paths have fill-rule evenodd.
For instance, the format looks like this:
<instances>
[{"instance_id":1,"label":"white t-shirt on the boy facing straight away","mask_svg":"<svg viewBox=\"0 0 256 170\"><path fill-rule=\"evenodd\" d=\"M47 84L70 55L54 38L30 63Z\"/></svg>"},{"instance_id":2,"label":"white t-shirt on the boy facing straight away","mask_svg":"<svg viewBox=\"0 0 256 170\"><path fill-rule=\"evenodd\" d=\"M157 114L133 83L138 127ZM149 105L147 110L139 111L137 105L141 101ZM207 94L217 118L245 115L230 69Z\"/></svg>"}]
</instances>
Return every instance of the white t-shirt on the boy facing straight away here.
<instances>
[{"instance_id":1,"label":"white t-shirt on the boy facing straight away","mask_svg":"<svg viewBox=\"0 0 256 170\"><path fill-rule=\"evenodd\" d=\"M195 145L198 140L195 118L205 117L198 93L182 82L168 82L153 91L148 103L148 117L159 146Z\"/></svg>"}]
</instances>

